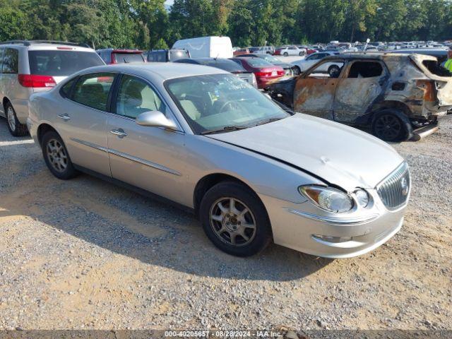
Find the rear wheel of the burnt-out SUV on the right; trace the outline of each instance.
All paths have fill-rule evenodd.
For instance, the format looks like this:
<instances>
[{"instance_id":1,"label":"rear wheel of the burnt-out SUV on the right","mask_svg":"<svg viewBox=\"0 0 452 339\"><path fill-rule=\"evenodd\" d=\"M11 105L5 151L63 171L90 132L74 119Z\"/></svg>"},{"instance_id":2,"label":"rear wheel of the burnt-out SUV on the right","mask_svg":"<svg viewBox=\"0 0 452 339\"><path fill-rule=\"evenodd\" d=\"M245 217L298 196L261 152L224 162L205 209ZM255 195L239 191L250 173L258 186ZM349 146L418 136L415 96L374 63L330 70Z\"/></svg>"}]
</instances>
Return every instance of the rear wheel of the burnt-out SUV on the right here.
<instances>
[{"instance_id":1,"label":"rear wheel of the burnt-out SUV on the right","mask_svg":"<svg viewBox=\"0 0 452 339\"><path fill-rule=\"evenodd\" d=\"M388 142L407 141L412 137L412 125L405 114L396 109L383 109L374 115L372 133Z\"/></svg>"}]
</instances>

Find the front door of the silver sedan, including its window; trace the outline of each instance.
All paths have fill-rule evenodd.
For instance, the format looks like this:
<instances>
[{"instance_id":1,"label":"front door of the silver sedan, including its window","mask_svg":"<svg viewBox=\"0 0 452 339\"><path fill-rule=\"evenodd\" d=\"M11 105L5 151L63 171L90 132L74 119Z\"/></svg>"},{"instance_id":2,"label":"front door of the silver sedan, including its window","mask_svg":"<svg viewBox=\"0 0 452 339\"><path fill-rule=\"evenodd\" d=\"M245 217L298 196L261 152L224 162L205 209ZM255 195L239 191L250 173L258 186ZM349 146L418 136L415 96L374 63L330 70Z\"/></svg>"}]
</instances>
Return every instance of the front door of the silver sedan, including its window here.
<instances>
[{"instance_id":1,"label":"front door of the silver sedan, including its window","mask_svg":"<svg viewBox=\"0 0 452 339\"><path fill-rule=\"evenodd\" d=\"M184 133L136 124L139 114L154 110L171 119L165 102L149 83L123 75L114 114L108 117L112 177L182 203Z\"/></svg>"}]
</instances>

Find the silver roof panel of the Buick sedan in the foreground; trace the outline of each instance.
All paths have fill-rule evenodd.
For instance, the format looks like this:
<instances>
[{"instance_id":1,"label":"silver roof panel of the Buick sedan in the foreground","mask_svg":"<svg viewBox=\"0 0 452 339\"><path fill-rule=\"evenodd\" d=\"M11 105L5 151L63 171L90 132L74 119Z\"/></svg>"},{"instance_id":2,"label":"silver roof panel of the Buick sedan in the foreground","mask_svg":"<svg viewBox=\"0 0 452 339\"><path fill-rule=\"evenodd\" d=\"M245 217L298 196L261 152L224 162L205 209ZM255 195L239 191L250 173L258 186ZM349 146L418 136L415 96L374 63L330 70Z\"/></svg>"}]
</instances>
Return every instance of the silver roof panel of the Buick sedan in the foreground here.
<instances>
[{"instance_id":1,"label":"silver roof panel of the Buick sedan in the foreground","mask_svg":"<svg viewBox=\"0 0 452 339\"><path fill-rule=\"evenodd\" d=\"M136 75L151 76L165 81L172 78L182 78L184 76L202 76L204 74L224 74L227 71L216 69L215 67L184 64L175 62L149 62L147 64L114 64L107 66L95 66L85 69L81 73L93 72L121 72L134 73Z\"/></svg>"}]
</instances>

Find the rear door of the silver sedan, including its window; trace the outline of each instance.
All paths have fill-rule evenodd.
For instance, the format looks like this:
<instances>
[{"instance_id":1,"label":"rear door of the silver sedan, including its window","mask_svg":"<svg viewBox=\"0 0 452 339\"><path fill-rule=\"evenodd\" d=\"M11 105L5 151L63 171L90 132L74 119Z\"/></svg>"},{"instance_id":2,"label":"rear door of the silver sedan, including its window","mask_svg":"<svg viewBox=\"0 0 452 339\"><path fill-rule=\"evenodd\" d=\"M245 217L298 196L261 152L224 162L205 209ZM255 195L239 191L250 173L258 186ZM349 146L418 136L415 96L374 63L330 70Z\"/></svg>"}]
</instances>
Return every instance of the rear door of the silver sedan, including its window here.
<instances>
[{"instance_id":1,"label":"rear door of the silver sedan, including its window","mask_svg":"<svg viewBox=\"0 0 452 339\"><path fill-rule=\"evenodd\" d=\"M69 81L54 121L74 164L111 176L107 143L108 101L114 73L90 73Z\"/></svg>"}]
</instances>

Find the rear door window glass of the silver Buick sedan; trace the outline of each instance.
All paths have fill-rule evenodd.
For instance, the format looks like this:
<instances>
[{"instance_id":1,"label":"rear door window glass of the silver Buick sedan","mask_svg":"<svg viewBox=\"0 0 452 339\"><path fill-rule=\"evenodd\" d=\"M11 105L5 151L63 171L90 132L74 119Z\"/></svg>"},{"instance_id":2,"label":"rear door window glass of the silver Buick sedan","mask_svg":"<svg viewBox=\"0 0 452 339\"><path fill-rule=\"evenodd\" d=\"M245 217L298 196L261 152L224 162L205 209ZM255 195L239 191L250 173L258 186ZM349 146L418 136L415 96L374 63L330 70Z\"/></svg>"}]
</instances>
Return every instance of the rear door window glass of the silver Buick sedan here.
<instances>
[{"instance_id":1,"label":"rear door window glass of the silver Buick sedan","mask_svg":"<svg viewBox=\"0 0 452 339\"><path fill-rule=\"evenodd\" d=\"M81 76L73 89L72 100L101 111L107 111L108 93L114 74L93 73Z\"/></svg>"}]
</instances>

